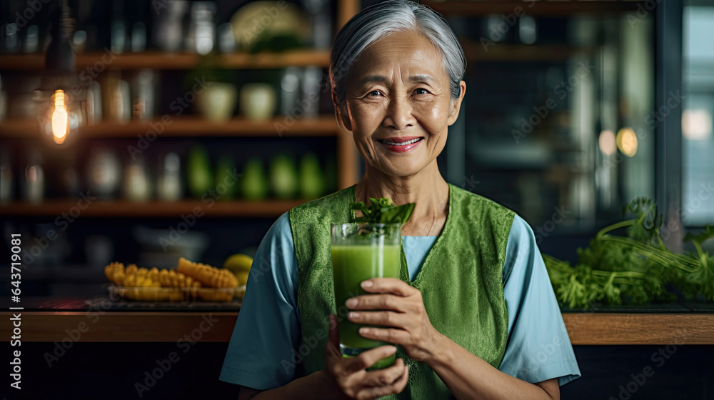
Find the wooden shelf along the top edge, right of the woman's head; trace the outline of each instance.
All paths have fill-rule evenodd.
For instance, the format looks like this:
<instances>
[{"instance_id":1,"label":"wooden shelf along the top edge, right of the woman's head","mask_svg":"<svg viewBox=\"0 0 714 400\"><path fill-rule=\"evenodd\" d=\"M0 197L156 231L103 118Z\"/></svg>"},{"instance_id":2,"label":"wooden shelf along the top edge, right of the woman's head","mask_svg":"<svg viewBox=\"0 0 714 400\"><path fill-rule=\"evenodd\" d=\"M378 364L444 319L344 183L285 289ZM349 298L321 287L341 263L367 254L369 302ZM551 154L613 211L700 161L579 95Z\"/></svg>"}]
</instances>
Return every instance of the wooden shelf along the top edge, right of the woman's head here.
<instances>
[{"instance_id":1,"label":"wooden shelf along the top edge, right of the woman's head","mask_svg":"<svg viewBox=\"0 0 714 400\"><path fill-rule=\"evenodd\" d=\"M571 16L573 14L597 13L613 14L637 10L636 0L615 1L433 1L425 0L422 4L445 16L488 16L491 14L508 15L521 12L528 15ZM523 10L523 11L521 11Z\"/></svg>"}]
</instances>

